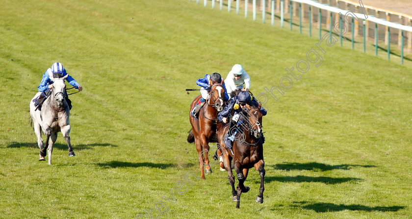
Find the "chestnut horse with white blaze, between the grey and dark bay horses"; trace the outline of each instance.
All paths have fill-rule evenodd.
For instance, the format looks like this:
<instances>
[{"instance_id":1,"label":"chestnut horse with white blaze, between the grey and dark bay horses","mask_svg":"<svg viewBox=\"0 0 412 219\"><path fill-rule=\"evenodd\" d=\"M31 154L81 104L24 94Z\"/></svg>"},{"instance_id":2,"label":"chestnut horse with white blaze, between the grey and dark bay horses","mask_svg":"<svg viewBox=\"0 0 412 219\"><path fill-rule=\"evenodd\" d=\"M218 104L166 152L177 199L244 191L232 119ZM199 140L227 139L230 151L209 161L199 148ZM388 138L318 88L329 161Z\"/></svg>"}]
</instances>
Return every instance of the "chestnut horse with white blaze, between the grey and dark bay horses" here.
<instances>
[{"instance_id":1,"label":"chestnut horse with white blaze, between the grey and dark bay horses","mask_svg":"<svg viewBox=\"0 0 412 219\"><path fill-rule=\"evenodd\" d=\"M204 166L206 166L206 174L212 173L208 158L209 142L217 142L217 130L221 126L221 123L217 120L217 114L226 105L225 89L222 84L213 84L206 98L206 104L199 112L199 118L195 119L190 116L190 113L201 97L196 97L190 104L189 121L192 125L192 130L187 137L187 142L195 142L196 150L199 154L198 160L201 177L205 179Z\"/></svg>"}]
</instances>

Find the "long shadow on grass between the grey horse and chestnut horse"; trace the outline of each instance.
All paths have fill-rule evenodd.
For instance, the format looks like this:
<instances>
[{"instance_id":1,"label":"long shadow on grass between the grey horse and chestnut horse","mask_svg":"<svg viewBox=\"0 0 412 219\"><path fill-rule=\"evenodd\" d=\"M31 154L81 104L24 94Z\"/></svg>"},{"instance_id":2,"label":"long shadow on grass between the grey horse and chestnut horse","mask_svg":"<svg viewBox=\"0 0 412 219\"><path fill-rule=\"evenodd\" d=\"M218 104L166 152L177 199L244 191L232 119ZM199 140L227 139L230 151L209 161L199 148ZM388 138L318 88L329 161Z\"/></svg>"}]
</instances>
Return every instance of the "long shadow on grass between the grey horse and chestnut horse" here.
<instances>
[{"instance_id":1,"label":"long shadow on grass between the grey horse and chestnut horse","mask_svg":"<svg viewBox=\"0 0 412 219\"><path fill-rule=\"evenodd\" d=\"M106 163L97 163L96 165L103 167L103 168L121 168L121 167L133 167L133 168L138 168L138 167L150 167L150 168L158 168L158 169L166 169L169 167L173 168L186 168L186 167L191 167L194 166L194 164L155 164L155 163L148 163L148 162L142 162L142 163L132 163L132 162L124 162L124 161L110 161Z\"/></svg>"}]
</instances>

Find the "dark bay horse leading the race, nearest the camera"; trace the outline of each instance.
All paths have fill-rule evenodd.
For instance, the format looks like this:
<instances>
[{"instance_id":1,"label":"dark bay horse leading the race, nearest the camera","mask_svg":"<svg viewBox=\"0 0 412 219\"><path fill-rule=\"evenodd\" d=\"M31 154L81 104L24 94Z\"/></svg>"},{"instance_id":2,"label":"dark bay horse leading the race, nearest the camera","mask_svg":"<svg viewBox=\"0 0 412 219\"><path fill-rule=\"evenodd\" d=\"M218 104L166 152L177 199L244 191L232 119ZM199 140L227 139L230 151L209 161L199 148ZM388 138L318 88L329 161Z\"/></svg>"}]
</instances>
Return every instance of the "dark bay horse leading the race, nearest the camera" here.
<instances>
[{"instance_id":1,"label":"dark bay horse leading the race, nearest the camera","mask_svg":"<svg viewBox=\"0 0 412 219\"><path fill-rule=\"evenodd\" d=\"M249 169L255 167L260 175L259 195L256 197L258 203L263 203L264 177L265 177L265 162L263 161L263 145L261 139L261 122L262 113L260 112L260 104L258 107L246 105L243 108L243 122L240 124L239 131L236 134L233 142L232 152L225 146L225 135L228 133L230 125L227 124L218 132L219 138L219 155L223 156L223 163L220 163L221 168L225 168L228 172L229 183L232 186L232 201L237 201L236 208L240 205L240 195L249 191L248 186L244 186L244 182L248 176ZM239 119L239 121L241 120ZM236 171L236 176L239 181L236 189L234 189L234 176L232 173L233 167Z\"/></svg>"}]
</instances>

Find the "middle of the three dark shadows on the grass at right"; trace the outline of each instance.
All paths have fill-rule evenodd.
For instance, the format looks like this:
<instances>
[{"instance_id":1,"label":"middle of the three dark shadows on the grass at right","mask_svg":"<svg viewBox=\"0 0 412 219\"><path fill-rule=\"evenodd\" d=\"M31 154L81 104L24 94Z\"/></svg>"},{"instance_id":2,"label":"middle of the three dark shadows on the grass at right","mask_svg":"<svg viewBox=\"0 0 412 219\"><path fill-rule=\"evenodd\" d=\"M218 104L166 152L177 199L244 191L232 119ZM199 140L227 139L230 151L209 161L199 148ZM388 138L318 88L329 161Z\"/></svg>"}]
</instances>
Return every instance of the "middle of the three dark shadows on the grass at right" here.
<instances>
[{"instance_id":1,"label":"middle of the three dark shadows on the grass at right","mask_svg":"<svg viewBox=\"0 0 412 219\"><path fill-rule=\"evenodd\" d=\"M270 183L272 181L279 181L279 182L320 182L325 184L337 184L337 183L344 183L349 181L360 181L359 178L353 177L342 177L342 178L333 178L333 177L313 177L313 176L265 176L265 183ZM259 183L260 181L257 181Z\"/></svg>"}]
</instances>

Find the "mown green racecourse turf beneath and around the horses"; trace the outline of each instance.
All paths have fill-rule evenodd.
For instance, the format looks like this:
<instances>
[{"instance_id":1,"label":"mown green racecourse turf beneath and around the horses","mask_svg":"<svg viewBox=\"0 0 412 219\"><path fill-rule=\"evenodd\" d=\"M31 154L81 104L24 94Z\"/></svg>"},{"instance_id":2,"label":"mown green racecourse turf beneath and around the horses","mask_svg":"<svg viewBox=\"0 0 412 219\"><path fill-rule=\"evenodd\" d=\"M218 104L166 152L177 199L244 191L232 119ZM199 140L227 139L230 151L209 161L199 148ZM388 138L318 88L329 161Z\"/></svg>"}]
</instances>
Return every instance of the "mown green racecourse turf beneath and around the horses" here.
<instances>
[{"instance_id":1,"label":"mown green racecourse turf beneath and around the horses","mask_svg":"<svg viewBox=\"0 0 412 219\"><path fill-rule=\"evenodd\" d=\"M338 42L266 104L263 204L256 170L238 210L217 166L175 203L162 199L200 174L186 143L198 93L184 89L240 63L258 95L318 42L195 2L2 2L0 217L132 219L163 200L167 212L153 217L409 218L412 68ZM70 96L77 156L59 135L49 166L37 160L28 103L56 61L84 89Z\"/></svg>"}]
</instances>

